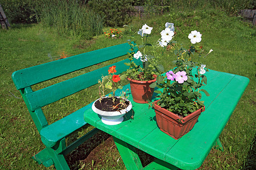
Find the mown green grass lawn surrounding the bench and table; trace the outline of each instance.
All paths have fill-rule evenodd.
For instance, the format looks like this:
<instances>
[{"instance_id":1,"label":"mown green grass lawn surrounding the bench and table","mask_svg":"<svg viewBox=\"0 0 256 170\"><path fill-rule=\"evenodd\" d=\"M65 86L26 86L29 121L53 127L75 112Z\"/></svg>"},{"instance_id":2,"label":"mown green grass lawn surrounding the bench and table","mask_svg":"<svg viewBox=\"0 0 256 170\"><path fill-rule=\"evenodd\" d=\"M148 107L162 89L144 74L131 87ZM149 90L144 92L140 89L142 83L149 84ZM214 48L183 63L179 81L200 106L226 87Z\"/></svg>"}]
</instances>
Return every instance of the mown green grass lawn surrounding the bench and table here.
<instances>
[{"instance_id":1,"label":"mown green grass lawn surrounding the bench and table","mask_svg":"<svg viewBox=\"0 0 256 170\"><path fill-rule=\"evenodd\" d=\"M251 164L246 164L246 160L247 163L250 161L255 163L251 157L246 159L251 155L256 131L255 27L251 28L240 18L227 16L224 12L217 10L171 12L163 16L152 16L149 19L133 19L135 30L141 28L144 23L154 27L150 37L150 41L154 42L160 38L159 32L166 22L174 23L176 37L185 45L189 45L187 38L189 32L197 30L203 33L201 45L207 52L213 49L213 52L204 59L208 69L242 75L250 79L249 86L220 135L224 152L210 151L199 169L240 169L243 165L249 167ZM63 52L73 56L124 43L127 39L126 31L124 28L120 29L124 33L122 39L105 39L105 36L101 35L91 40L63 38L52 29L43 29L40 24L16 25L7 31L0 30L0 169L31 169L31 167L44 169L43 165L38 165L31 159L44 146L26 105L20 99L19 91L15 89L11 74L16 70L59 59ZM139 41L139 36L137 38ZM163 63L166 70L172 68L174 59L171 52L165 52ZM77 95L44 108L47 120L49 122L59 120L96 100L97 94L93 91L96 91L96 88L81 91ZM82 129L68 138L68 141L81 136L85 131ZM104 148L105 152L98 150L89 160L90 163L88 161L84 163L84 155L89 154L85 145L93 147L90 146L91 143L86 143L67 156L69 166L72 169L125 169L114 144L111 141L105 142L106 138L108 135L101 133L94 138L95 141L91 141L91 143L98 142L97 144Z\"/></svg>"}]
</instances>

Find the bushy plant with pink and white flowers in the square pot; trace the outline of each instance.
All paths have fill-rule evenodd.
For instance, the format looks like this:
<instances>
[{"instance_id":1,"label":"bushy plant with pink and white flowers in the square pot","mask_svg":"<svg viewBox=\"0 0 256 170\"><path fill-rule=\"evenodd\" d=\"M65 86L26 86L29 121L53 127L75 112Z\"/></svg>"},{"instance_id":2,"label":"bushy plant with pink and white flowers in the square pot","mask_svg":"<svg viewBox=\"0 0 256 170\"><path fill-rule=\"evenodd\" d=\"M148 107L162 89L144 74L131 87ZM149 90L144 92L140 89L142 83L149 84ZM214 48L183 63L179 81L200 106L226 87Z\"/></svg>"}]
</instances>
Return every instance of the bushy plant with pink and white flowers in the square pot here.
<instances>
[{"instance_id":1,"label":"bushy plant with pink and white flowers in the square pot","mask_svg":"<svg viewBox=\"0 0 256 170\"><path fill-rule=\"evenodd\" d=\"M160 98L158 105L178 114L181 118L204 107L204 101L200 101L201 92L209 96L206 90L200 88L207 84L207 76L204 74L208 69L199 61L204 50L202 50L201 46L194 45L201 41L201 33L192 31L189 33L188 38L191 40L192 45L186 49L182 45L178 45L175 40L168 40L162 37L160 43L164 47L170 45L174 49L173 52L177 57L174 61L176 67L168 71L165 76L159 75L157 83L151 84L151 87L156 86L163 90L155 91L159 94L156 97ZM212 52L212 49L210 52ZM193 61L196 54L198 54L197 62ZM196 71L193 71L193 68Z\"/></svg>"}]
</instances>

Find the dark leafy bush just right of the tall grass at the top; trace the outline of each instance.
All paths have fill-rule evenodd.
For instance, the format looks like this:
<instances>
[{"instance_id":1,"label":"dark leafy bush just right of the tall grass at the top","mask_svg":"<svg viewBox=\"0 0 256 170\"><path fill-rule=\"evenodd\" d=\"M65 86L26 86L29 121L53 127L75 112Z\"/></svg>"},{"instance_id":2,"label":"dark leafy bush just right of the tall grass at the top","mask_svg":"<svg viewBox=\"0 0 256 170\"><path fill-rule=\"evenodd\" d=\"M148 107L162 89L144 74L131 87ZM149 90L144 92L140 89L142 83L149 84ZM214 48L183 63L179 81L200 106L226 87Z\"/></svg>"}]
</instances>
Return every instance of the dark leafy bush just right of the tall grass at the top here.
<instances>
[{"instance_id":1,"label":"dark leafy bush just right of the tall grass at the top","mask_svg":"<svg viewBox=\"0 0 256 170\"><path fill-rule=\"evenodd\" d=\"M105 24L110 27L122 27L130 22L127 11L132 8L133 0L91 0L88 2L90 10L105 15Z\"/></svg>"}]
</instances>

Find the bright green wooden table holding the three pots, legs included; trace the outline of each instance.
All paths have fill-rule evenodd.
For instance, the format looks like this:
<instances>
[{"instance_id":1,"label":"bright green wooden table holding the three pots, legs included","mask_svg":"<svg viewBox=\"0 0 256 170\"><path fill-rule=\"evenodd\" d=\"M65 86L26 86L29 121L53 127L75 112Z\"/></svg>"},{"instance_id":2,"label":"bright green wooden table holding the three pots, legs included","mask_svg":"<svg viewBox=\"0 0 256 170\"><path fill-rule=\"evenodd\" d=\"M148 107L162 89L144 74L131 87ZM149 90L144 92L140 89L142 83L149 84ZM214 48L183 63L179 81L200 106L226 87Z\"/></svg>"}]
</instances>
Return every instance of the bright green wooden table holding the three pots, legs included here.
<instances>
[{"instance_id":1,"label":"bright green wooden table holding the three pots, legs included","mask_svg":"<svg viewBox=\"0 0 256 170\"><path fill-rule=\"evenodd\" d=\"M249 79L240 75L210 70L206 73L208 84L204 87L210 94L203 94L205 112L201 113L194 128L178 140L160 131L156 124L155 111L148 104L134 103L121 124L110 126L88 109L84 119L90 125L113 136L127 169L142 169L135 147L156 159L144 169L196 169L203 164L212 147L223 149L218 139ZM129 88L129 84L126 88ZM154 97L152 100L156 100ZM131 119L131 115L134 118ZM216 145L217 144L217 145Z\"/></svg>"}]
</instances>

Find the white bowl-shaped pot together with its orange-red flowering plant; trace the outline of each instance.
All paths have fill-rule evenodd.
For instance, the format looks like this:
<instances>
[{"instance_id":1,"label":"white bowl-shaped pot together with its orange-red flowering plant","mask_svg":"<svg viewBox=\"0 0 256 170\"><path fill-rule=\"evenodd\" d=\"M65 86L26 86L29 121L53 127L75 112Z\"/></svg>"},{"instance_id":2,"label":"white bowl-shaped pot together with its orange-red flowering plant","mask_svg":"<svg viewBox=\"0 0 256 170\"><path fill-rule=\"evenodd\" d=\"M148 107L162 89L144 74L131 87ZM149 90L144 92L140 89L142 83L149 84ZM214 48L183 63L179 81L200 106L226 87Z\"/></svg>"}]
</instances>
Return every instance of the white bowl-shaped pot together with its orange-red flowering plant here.
<instances>
[{"instance_id":1,"label":"white bowl-shaped pot together with its orange-red flowering plant","mask_svg":"<svg viewBox=\"0 0 256 170\"><path fill-rule=\"evenodd\" d=\"M125 77L115 75L117 72L115 66L109 67L108 71L109 75L102 76L102 80L98 80L98 83L100 83L100 99L94 101L92 110L101 116L101 121L104 124L117 125L123 121L123 116L131 110L132 105L127 99L126 91L122 91L119 96L115 94L117 88L122 89L120 82L121 79L125 79ZM112 90L113 94L105 96L106 89Z\"/></svg>"}]
</instances>

